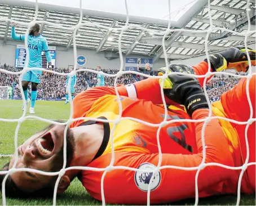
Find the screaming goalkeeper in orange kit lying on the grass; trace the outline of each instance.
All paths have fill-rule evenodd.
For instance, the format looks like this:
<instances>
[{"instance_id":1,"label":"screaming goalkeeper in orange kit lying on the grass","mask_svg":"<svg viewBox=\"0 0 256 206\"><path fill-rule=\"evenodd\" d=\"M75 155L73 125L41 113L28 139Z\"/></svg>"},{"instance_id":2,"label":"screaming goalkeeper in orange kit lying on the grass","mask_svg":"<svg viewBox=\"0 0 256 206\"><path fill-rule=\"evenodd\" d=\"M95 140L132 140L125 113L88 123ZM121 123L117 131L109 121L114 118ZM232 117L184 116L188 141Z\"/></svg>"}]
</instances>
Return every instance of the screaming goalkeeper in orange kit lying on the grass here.
<instances>
[{"instance_id":1,"label":"screaming goalkeeper in orange kit lying on the grass","mask_svg":"<svg viewBox=\"0 0 256 206\"><path fill-rule=\"evenodd\" d=\"M255 65L255 51L249 51ZM210 57L211 70L235 68L245 71L248 60L245 51L230 48ZM171 71L203 75L208 62L202 61L192 68L186 65L170 65L161 68L159 75ZM201 122L174 122L161 128L161 165L197 167L202 162L202 127L208 117L209 107L201 90L203 78L186 75L169 75L165 80L165 99L169 105L167 120L193 119ZM211 105L213 117L226 117L246 122L250 117L246 82L239 84L221 96ZM159 79L146 79L127 86L118 86L122 104L122 117L133 117L149 123L164 120L164 106ZM151 92L148 92L151 91ZM249 82L250 100L255 118L255 75ZM73 122L67 135L67 167L87 166L105 168L111 163L111 131L113 123L100 120L118 118L118 101L113 87L95 87L81 92L74 98L73 118L90 117L98 121ZM182 106L184 105L184 106ZM186 108L186 109L184 109ZM29 167L41 171L56 172L63 165L64 126L50 125L30 137L19 147L17 168ZM220 163L239 167L246 159L245 124L229 123L211 119L205 127L206 163ZM156 168L159 160L157 147L158 127L146 126L133 120L121 120L113 132L114 165L150 170ZM255 122L248 128L249 163L255 162ZM14 157L2 168L11 169ZM182 169L161 169L151 183L151 203L160 204L195 196L195 171ZM236 194L241 170L209 166L200 171L198 191L200 197L216 194ZM58 192L67 190L74 177L78 177L85 189L101 200L100 182L103 172L69 170L61 177ZM3 180L3 175L1 180ZM104 195L107 203L146 204L147 190L152 172L134 172L113 169L104 178ZM50 196L54 191L57 176L44 176L33 172L15 172L6 181L7 196ZM1 181L2 182L2 181ZM1 187L2 188L2 187ZM242 176L241 192L255 192L255 164L246 168Z\"/></svg>"}]
</instances>

